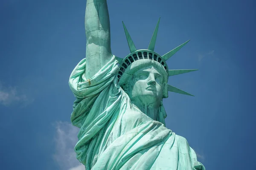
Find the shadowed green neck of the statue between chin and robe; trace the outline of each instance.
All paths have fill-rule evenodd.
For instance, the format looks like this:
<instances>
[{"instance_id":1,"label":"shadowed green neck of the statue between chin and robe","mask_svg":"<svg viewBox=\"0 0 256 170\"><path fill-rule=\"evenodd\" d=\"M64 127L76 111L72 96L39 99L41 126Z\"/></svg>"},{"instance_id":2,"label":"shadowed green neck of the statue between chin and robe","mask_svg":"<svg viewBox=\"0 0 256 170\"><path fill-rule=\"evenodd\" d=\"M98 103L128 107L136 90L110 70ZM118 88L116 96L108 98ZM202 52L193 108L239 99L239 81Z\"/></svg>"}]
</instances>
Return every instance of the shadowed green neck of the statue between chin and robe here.
<instances>
[{"instance_id":1,"label":"shadowed green neck of the statue between chin and robe","mask_svg":"<svg viewBox=\"0 0 256 170\"><path fill-rule=\"evenodd\" d=\"M153 106L153 105L148 105L144 104L140 101L131 101L134 105L136 105L140 111L142 111L145 115L150 117L153 120L157 120L157 114L159 110L159 106Z\"/></svg>"}]
</instances>

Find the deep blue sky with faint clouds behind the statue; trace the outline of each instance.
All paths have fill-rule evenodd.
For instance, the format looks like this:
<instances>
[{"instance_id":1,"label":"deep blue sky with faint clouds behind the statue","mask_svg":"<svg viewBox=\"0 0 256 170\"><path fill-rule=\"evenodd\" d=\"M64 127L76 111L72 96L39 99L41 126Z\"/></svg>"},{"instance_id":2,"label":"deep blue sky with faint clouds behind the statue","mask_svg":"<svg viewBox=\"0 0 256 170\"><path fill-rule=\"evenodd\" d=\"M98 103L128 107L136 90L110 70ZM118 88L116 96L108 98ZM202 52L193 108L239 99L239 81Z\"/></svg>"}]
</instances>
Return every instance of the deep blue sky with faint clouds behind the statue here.
<instances>
[{"instance_id":1,"label":"deep blue sky with faint clouds behind the statue","mask_svg":"<svg viewBox=\"0 0 256 170\"><path fill-rule=\"evenodd\" d=\"M70 125L68 79L85 57L85 0L0 1L0 169L81 170ZM169 69L195 97L169 92L166 126L184 136L207 170L256 169L256 2L109 0L111 49L125 57L124 21L147 48L161 17L160 55L191 39Z\"/></svg>"}]
</instances>

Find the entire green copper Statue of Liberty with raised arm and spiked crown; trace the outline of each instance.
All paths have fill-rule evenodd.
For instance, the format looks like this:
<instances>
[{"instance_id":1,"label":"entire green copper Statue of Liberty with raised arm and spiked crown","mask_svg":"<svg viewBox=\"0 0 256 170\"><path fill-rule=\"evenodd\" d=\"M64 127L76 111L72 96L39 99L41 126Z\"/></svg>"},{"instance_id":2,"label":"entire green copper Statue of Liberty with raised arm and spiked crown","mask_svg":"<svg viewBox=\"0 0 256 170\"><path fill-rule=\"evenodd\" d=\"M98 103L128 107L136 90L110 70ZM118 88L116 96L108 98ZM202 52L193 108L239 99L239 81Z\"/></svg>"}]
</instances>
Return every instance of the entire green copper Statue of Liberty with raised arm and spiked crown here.
<instances>
[{"instance_id":1,"label":"entire green copper Statue of Liberty with raised arm and spiked crown","mask_svg":"<svg viewBox=\"0 0 256 170\"><path fill-rule=\"evenodd\" d=\"M148 49L137 50L123 24L131 53L111 53L106 0L87 0L86 59L70 75L76 96L71 122L80 128L75 146L86 170L205 170L185 138L165 127L163 98L168 77L195 70L169 70L166 60L183 45L160 56L154 52L159 20Z\"/></svg>"}]
</instances>

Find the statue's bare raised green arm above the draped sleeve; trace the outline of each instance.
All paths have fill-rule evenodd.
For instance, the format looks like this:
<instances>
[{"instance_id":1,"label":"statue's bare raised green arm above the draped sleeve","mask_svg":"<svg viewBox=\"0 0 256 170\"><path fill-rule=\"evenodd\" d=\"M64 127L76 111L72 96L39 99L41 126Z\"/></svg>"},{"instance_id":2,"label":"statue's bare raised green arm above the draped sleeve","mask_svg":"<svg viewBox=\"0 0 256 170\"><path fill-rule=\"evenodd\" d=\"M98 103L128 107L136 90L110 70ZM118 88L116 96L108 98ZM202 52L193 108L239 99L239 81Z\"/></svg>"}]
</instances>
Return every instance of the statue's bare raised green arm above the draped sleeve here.
<instances>
[{"instance_id":1,"label":"statue's bare raised green arm above the draped sleeve","mask_svg":"<svg viewBox=\"0 0 256 170\"><path fill-rule=\"evenodd\" d=\"M85 10L86 78L93 77L112 57L107 0L87 0Z\"/></svg>"}]
</instances>

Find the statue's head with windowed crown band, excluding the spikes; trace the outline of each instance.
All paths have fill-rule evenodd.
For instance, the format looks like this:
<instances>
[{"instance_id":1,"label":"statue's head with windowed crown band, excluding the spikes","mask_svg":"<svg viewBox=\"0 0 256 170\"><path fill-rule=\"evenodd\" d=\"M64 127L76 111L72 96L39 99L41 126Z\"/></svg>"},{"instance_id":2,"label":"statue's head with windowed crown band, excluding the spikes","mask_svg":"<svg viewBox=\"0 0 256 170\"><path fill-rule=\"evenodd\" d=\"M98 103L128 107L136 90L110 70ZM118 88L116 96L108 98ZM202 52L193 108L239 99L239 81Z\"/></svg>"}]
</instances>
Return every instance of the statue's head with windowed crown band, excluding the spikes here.
<instances>
[{"instance_id":1,"label":"statue's head with windowed crown band, excluding the spikes","mask_svg":"<svg viewBox=\"0 0 256 170\"><path fill-rule=\"evenodd\" d=\"M119 85L131 101L158 107L168 97L168 67L154 51L137 50L124 59L118 73Z\"/></svg>"}]
</instances>

